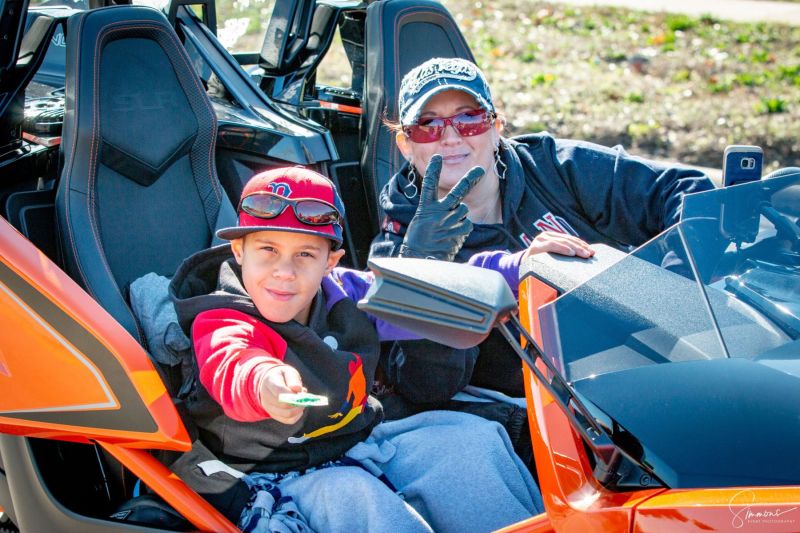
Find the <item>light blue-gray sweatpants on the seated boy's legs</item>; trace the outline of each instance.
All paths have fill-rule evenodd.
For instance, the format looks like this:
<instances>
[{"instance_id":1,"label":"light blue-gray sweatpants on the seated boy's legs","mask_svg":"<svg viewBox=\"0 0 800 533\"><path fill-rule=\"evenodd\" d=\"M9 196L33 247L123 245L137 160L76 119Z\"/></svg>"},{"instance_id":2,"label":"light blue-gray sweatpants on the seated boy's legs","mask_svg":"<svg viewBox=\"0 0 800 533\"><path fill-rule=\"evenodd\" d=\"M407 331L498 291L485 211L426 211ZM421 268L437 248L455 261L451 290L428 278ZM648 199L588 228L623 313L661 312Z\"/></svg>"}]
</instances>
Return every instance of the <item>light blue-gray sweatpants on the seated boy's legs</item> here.
<instances>
[{"instance_id":1,"label":"light blue-gray sweatpants on the seated boy's legs","mask_svg":"<svg viewBox=\"0 0 800 533\"><path fill-rule=\"evenodd\" d=\"M428 411L384 422L347 455L386 474L403 497L357 466L284 479L281 493L314 531L481 532L543 511L503 427L474 415Z\"/></svg>"}]
</instances>

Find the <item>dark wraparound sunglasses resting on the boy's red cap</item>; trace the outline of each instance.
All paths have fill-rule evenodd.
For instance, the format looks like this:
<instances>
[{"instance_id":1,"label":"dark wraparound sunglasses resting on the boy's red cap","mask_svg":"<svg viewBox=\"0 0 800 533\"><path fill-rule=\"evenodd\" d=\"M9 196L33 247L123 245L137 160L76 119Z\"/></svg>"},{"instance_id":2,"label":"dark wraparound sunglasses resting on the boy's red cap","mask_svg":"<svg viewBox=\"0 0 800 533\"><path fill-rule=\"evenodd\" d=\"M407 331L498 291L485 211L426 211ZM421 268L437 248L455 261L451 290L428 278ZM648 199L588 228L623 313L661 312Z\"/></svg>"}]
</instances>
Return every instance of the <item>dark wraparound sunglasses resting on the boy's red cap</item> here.
<instances>
[{"instance_id":1,"label":"dark wraparound sunglasses resting on the boy's red cap","mask_svg":"<svg viewBox=\"0 0 800 533\"><path fill-rule=\"evenodd\" d=\"M256 218L269 219L279 216L289 206L292 207L297 220L303 224L309 226L341 225L342 214L333 204L316 198L289 199L266 191L254 192L242 198L237 211L244 211Z\"/></svg>"}]
</instances>

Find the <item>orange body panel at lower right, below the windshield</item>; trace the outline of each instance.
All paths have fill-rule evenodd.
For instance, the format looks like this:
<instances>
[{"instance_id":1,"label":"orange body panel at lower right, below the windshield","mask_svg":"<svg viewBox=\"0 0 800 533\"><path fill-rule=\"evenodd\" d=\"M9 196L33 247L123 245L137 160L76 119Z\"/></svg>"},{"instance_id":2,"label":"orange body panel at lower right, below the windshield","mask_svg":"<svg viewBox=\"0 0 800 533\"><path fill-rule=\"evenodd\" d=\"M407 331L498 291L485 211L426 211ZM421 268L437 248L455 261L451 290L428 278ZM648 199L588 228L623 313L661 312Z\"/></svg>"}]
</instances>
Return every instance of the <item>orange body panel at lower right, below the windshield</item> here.
<instances>
[{"instance_id":1,"label":"orange body panel at lower right, below the windshield","mask_svg":"<svg viewBox=\"0 0 800 533\"><path fill-rule=\"evenodd\" d=\"M538 309L558 295L533 277L522 281L519 294L520 320L541 343ZM539 369L545 372L544 365ZM536 377L524 370L534 457L553 531L800 531L800 487L643 489L624 493L604 489L594 480L580 438L566 417ZM539 531L525 529L526 523L507 531ZM538 522L532 523L538 526Z\"/></svg>"}]
</instances>

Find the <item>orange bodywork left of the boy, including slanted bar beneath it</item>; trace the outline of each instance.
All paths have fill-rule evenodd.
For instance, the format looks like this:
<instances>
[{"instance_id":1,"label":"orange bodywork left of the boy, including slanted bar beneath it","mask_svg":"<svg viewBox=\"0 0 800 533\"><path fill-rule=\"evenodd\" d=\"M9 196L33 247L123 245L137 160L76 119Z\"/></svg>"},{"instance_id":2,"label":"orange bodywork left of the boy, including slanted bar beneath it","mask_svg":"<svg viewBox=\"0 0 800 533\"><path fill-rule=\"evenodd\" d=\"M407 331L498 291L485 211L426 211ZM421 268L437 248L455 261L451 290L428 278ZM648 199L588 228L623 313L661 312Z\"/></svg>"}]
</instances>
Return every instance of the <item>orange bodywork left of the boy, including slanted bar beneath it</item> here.
<instances>
[{"instance_id":1,"label":"orange bodywork left of the boy, including slanted bar beneath it","mask_svg":"<svg viewBox=\"0 0 800 533\"><path fill-rule=\"evenodd\" d=\"M144 349L1 218L0 323L0 432L97 443L198 529L238 531L147 451L191 442Z\"/></svg>"}]
</instances>

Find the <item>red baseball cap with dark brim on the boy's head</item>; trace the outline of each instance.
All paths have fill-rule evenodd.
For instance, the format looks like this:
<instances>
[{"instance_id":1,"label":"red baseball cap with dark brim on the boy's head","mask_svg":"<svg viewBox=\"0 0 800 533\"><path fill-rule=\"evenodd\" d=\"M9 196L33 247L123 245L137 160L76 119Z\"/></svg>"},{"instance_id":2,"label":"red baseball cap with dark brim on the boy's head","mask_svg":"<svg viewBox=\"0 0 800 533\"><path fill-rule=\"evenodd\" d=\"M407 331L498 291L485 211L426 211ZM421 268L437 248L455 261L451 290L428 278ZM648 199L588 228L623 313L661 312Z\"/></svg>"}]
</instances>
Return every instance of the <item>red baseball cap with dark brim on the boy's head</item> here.
<instances>
[{"instance_id":1,"label":"red baseball cap with dark brim on the boy's head","mask_svg":"<svg viewBox=\"0 0 800 533\"><path fill-rule=\"evenodd\" d=\"M217 230L217 237L232 240L257 231L289 231L325 237L335 243L335 248L339 248L342 245L342 226L340 223L331 223L323 226L306 224L297 218L294 209L289 205L274 218L259 218L241 209L241 202L246 197L262 192L272 193L291 200L322 200L333 205L339 212L340 220L343 221L344 204L331 180L322 174L303 167L276 168L256 174L250 178L250 181L244 186L242 197L239 200L239 224L234 227Z\"/></svg>"}]
</instances>

